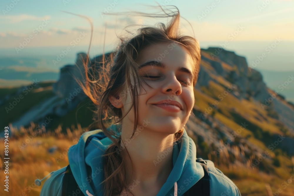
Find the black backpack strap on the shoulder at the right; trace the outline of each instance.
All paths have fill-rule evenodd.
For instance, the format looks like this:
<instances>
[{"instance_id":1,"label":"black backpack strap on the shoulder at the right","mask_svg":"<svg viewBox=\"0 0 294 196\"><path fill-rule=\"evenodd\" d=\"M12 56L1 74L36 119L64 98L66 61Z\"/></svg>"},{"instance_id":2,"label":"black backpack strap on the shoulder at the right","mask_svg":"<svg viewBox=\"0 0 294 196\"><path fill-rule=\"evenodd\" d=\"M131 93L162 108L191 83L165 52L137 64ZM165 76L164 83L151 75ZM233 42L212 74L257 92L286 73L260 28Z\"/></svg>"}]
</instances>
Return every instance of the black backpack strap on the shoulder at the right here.
<instances>
[{"instance_id":1,"label":"black backpack strap on the shoulder at the right","mask_svg":"<svg viewBox=\"0 0 294 196\"><path fill-rule=\"evenodd\" d=\"M194 196L194 195L208 196L210 195L210 184L209 184L208 168L206 165L207 163L201 158L197 159L196 162L202 165L204 170L204 176L185 193L185 196Z\"/></svg>"}]
</instances>

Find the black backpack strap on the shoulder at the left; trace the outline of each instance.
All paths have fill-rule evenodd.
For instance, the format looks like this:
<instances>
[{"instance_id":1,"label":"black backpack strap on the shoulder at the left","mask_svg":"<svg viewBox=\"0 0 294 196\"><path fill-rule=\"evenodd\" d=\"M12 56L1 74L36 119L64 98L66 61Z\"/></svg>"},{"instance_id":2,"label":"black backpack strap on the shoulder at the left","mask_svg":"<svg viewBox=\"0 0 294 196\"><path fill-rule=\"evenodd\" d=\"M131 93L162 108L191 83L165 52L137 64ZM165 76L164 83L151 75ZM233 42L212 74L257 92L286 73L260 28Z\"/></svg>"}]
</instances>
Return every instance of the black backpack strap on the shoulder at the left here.
<instances>
[{"instance_id":1,"label":"black backpack strap on the shoulder at the left","mask_svg":"<svg viewBox=\"0 0 294 196\"><path fill-rule=\"evenodd\" d=\"M68 165L62 180L62 196L73 195L74 193L76 193L76 196L84 196L74 179L71 167Z\"/></svg>"}]
</instances>

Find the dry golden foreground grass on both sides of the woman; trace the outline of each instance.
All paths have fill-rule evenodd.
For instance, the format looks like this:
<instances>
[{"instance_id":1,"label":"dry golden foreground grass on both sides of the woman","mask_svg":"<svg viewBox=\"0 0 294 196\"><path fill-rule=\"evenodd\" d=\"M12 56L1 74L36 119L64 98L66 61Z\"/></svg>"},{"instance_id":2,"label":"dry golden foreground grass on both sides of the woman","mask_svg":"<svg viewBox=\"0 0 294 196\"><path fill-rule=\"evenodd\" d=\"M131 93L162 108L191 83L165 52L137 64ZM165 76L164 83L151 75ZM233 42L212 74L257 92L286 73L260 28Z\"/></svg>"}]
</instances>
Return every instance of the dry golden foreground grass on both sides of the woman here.
<instances>
[{"instance_id":1,"label":"dry golden foreground grass on both sides of the woman","mask_svg":"<svg viewBox=\"0 0 294 196\"><path fill-rule=\"evenodd\" d=\"M78 131L82 133L81 129ZM39 195L44 182L41 187L38 187L35 186L34 180L36 178L41 179L48 175L49 172L68 165L67 149L71 145L76 144L79 137L80 135L74 138L66 138L62 135L39 135L34 137L24 148L19 148L19 146L22 145L27 135L23 135L18 139L10 139L9 157L11 164L9 165L9 195ZM56 152L52 154L48 153L48 149L54 146L57 147ZM2 155L3 153L4 150L0 149L0 154ZM65 156L62 156L62 154ZM1 168L3 167L3 159L1 159L0 166ZM248 170L236 165L233 165L233 168L230 169L218 165L216 167L224 172L238 186L242 196L266 196L266 184L269 184L273 191L277 191L279 188L283 188L281 184L290 177L289 174L285 178L281 178L264 172L258 173L256 170ZM0 176L0 180L4 180L4 175ZM290 183L289 186L283 189L280 195L290 196L293 192L294 184ZM0 195L8 194L1 189Z\"/></svg>"}]
</instances>

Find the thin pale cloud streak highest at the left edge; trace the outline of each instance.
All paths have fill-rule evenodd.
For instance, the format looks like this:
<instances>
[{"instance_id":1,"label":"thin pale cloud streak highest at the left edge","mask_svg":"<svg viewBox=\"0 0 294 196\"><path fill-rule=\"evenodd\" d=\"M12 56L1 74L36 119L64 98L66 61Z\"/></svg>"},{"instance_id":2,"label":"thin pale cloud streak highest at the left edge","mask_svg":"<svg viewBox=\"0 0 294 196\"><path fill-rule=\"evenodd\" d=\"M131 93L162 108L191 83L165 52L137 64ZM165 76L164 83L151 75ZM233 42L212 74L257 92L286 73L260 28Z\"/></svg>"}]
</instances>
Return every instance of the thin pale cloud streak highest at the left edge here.
<instances>
[{"instance_id":1,"label":"thin pale cloud streak highest at the left edge","mask_svg":"<svg viewBox=\"0 0 294 196\"><path fill-rule=\"evenodd\" d=\"M19 23L26 20L42 21L46 19L51 19L51 16L38 17L33 15L21 14L15 16L0 16L0 23Z\"/></svg>"}]
</instances>

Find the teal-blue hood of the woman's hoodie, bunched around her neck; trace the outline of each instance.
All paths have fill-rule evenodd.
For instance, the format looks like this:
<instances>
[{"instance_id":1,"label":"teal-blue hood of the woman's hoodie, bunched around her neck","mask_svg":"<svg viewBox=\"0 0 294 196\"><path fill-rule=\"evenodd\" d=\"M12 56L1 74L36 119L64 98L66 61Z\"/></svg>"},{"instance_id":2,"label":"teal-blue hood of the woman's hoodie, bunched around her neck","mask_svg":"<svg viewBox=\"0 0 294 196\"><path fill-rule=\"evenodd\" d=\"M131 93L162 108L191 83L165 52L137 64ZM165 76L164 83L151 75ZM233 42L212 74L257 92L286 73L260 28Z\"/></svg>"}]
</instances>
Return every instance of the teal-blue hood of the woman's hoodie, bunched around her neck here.
<instances>
[{"instance_id":1,"label":"teal-blue hood of the woman's hoodie, bunched around her neck","mask_svg":"<svg viewBox=\"0 0 294 196\"><path fill-rule=\"evenodd\" d=\"M116 125L111 125L109 129L119 133ZM103 196L100 185L104 180L102 155L112 141L102 138L101 131L83 133L78 143L68 151L71 171L84 195ZM173 169L157 195L183 195L203 176L203 168L196 162L196 145L184 130L182 138L174 142Z\"/></svg>"}]
</instances>

